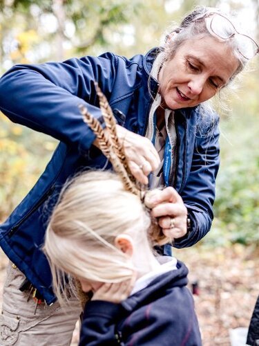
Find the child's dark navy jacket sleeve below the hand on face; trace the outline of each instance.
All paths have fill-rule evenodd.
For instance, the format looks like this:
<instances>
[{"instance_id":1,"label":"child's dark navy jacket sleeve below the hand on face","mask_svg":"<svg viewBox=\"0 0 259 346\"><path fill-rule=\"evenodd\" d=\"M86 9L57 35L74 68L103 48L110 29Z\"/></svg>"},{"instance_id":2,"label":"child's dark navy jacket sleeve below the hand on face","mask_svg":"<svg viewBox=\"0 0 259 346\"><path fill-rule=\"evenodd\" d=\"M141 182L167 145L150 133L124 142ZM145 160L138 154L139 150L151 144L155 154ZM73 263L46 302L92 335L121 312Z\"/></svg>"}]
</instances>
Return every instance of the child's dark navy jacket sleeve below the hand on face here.
<instances>
[{"instance_id":1,"label":"child's dark navy jacket sleeve below the hand on face","mask_svg":"<svg viewBox=\"0 0 259 346\"><path fill-rule=\"evenodd\" d=\"M88 302L81 323L79 346L121 345L115 330L119 311L119 304L103 300Z\"/></svg>"}]
</instances>

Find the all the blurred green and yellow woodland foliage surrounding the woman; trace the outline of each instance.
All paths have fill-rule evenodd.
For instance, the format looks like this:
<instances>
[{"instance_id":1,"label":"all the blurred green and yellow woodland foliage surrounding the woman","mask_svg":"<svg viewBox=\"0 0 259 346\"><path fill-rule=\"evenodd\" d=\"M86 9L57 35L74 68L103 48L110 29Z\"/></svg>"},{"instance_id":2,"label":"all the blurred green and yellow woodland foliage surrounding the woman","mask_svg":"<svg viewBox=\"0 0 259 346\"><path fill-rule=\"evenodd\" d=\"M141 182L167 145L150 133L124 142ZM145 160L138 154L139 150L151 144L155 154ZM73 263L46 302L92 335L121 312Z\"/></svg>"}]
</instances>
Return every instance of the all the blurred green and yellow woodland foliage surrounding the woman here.
<instances>
[{"instance_id":1,"label":"all the blurred green and yellow woodland foliage surrounding the woman","mask_svg":"<svg viewBox=\"0 0 259 346\"><path fill-rule=\"evenodd\" d=\"M258 0L0 0L0 69L106 50L128 57L145 53L160 44L171 23L179 23L195 6L245 10L250 2L259 15ZM256 64L255 60L251 66ZM231 242L258 242L259 71L255 70L245 76L240 100L236 95L231 98L233 118L227 122L222 116L223 133L233 145L222 136L215 233L209 235L215 235L216 243L225 241L226 235ZM14 125L0 114L0 220L35 183L55 145L52 138Z\"/></svg>"}]
</instances>

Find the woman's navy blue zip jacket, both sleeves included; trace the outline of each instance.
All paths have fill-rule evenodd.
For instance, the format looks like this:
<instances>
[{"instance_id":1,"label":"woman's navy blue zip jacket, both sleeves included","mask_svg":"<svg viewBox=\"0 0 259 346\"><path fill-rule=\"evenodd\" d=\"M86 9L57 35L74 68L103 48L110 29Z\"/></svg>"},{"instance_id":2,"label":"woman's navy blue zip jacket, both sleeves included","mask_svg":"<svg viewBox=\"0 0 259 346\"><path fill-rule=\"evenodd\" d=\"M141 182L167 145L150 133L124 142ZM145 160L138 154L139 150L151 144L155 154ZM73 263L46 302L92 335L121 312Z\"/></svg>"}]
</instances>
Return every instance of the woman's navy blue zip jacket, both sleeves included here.
<instances>
[{"instance_id":1,"label":"woman's navy blue zip jacket, both sleeves included","mask_svg":"<svg viewBox=\"0 0 259 346\"><path fill-rule=\"evenodd\" d=\"M96 80L118 123L144 135L158 88L157 81L150 78L156 54L155 49L130 60L105 53L62 63L17 65L0 80L1 111L13 122L60 141L36 185L0 226L3 251L48 304L55 295L41 245L52 206L69 176L86 168L106 167L106 158L92 146L95 135L84 123L78 105L84 104L102 120L93 84ZM178 152L175 176L171 174L170 181L192 220L191 233L175 242L178 247L195 244L211 226L219 165L217 122L211 114L201 117L200 107L175 111Z\"/></svg>"}]
</instances>

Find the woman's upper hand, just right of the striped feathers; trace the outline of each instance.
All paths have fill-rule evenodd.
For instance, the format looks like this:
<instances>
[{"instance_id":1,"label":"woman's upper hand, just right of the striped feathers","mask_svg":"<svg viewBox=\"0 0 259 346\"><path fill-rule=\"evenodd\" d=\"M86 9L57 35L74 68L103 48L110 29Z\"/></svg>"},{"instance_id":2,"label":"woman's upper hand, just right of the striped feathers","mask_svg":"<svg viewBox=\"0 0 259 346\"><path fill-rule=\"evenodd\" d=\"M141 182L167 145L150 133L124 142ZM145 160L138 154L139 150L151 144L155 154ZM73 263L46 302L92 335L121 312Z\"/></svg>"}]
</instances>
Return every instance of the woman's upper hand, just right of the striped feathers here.
<instances>
[{"instance_id":1,"label":"woman's upper hand, just right of the striped feathers","mask_svg":"<svg viewBox=\"0 0 259 346\"><path fill-rule=\"evenodd\" d=\"M116 125L117 135L122 141L124 152L131 173L142 184L148 183L148 174L156 170L160 164L160 157L151 140L146 137L128 131L120 125ZM104 129L106 131L106 129ZM98 147L98 141L93 143Z\"/></svg>"}]
</instances>

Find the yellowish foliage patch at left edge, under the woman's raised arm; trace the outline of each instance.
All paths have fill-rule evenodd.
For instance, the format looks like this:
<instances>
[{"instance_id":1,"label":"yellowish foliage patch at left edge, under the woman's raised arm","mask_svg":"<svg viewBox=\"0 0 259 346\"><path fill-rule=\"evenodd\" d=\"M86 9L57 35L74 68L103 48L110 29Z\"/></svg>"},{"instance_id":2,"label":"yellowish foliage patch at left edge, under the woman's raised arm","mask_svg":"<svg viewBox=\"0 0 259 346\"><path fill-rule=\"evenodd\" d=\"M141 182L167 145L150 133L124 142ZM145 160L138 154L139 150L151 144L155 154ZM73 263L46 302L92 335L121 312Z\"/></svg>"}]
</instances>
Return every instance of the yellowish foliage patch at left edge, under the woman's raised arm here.
<instances>
[{"instance_id":1,"label":"yellowish foliage patch at left edge, under the woman's raised arm","mask_svg":"<svg viewBox=\"0 0 259 346\"><path fill-rule=\"evenodd\" d=\"M52 138L13 125L0 113L0 221L32 188L55 145Z\"/></svg>"}]
</instances>

